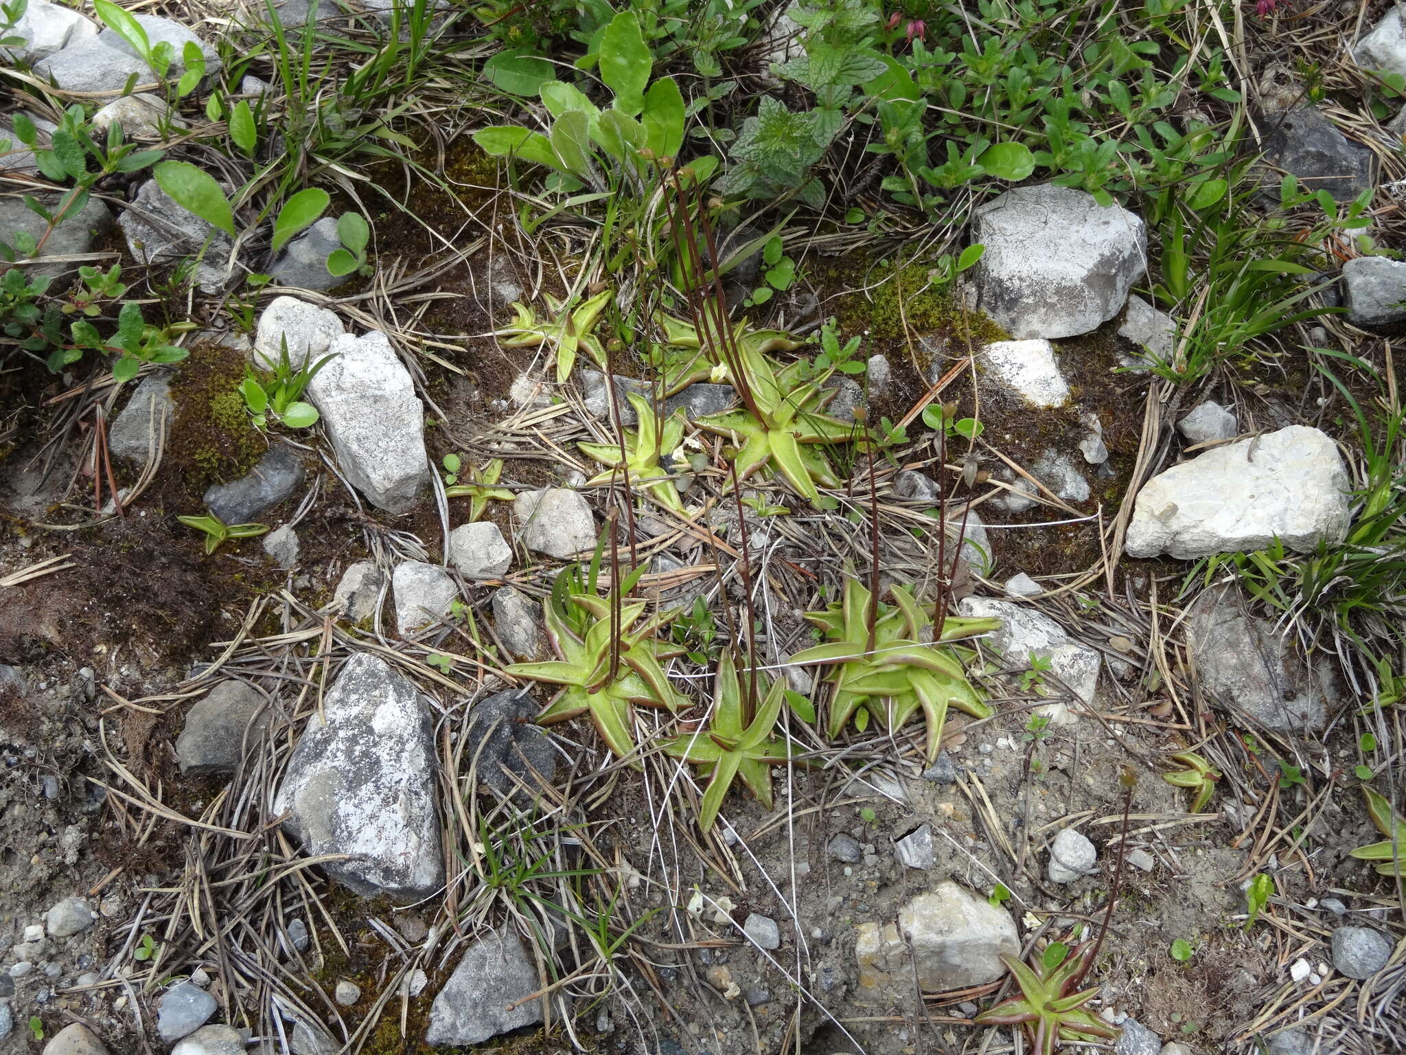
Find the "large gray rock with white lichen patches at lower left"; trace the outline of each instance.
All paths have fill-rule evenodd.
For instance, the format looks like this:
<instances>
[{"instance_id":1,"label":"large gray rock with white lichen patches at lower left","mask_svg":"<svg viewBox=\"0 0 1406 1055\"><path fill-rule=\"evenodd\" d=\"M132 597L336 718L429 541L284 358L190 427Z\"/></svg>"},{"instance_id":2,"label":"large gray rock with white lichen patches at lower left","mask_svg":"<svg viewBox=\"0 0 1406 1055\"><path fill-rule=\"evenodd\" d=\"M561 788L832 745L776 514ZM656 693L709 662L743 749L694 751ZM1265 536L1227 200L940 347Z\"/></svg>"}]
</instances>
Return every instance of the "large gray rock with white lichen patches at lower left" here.
<instances>
[{"instance_id":1,"label":"large gray rock with white lichen patches at lower left","mask_svg":"<svg viewBox=\"0 0 1406 1055\"><path fill-rule=\"evenodd\" d=\"M429 701L357 653L308 719L273 812L323 869L366 896L427 897L444 881Z\"/></svg>"}]
</instances>

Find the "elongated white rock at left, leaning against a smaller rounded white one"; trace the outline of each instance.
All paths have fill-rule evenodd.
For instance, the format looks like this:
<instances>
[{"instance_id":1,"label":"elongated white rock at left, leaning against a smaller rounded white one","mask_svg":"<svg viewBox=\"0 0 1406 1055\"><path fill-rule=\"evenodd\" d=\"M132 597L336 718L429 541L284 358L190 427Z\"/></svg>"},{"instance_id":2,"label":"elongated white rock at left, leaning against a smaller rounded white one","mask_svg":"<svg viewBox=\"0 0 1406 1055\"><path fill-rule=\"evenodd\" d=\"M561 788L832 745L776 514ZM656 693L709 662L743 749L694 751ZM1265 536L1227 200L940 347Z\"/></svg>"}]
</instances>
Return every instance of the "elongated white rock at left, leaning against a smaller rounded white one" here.
<instances>
[{"instance_id":1,"label":"elongated white rock at left, leaning against a smaller rounded white one","mask_svg":"<svg viewBox=\"0 0 1406 1055\"><path fill-rule=\"evenodd\" d=\"M373 505L402 513L430 481L425 408L385 333L343 333L336 357L308 385L308 398L337 452L337 464Z\"/></svg>"}]
</instances>

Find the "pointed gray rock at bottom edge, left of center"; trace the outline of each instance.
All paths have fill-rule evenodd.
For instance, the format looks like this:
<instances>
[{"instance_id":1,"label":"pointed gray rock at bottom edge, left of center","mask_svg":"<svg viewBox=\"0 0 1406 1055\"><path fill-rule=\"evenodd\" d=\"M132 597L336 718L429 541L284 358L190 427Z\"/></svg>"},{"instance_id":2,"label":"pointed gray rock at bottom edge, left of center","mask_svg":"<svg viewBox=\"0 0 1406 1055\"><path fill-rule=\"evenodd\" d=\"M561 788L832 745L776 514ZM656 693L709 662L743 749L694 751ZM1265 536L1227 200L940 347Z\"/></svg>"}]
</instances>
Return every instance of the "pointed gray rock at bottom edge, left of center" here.
<instances>
[{"instance_id":1,"label":"pointed gray rock at bottom edge, left of center","mask_svg":"<svg viewBox=\"0 0 1406 1055\"><path fill-rule=\"evenodd\" d=\"M425 1035L436 1047L482 1044L509 1030L541 1021L541 1000L508 1006L541 987L537 965L522 938L506 930L491 930L458 961L454 973L430 1006Z\"/></svg>"}]
</instances>

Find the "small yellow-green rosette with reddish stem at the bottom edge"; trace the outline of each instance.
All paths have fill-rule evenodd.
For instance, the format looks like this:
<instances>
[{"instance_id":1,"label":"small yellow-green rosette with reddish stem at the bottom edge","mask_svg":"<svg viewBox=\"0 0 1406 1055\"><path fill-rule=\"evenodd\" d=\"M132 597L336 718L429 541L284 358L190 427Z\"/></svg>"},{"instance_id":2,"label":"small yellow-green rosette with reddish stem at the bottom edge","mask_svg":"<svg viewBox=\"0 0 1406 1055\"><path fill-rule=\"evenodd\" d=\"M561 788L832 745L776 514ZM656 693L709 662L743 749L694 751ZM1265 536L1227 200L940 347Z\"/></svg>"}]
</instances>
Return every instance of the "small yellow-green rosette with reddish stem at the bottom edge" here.
<instances>
[{"instance_id":1,"label":"small yellow-green rosette with reddish stem at the bottom edge","mask_svg":"<svg viewBox=\"0 0 1406 1055\"><path fill-rule=\"evenodd\" d=\"M1094 948L1092 941L1073 950L1059 941L1050 942L1036 968L1002 952L1001 962L1015 975L1021 995L981 1011L973 1021L1024 1027L1038 1055L1053 1055L1060 1041L1116 1041L1122 1030L1084 1009L1098 995L1098 987L1070 992L1087 972L1085 961Z\"/></svg>"}]
</instances>

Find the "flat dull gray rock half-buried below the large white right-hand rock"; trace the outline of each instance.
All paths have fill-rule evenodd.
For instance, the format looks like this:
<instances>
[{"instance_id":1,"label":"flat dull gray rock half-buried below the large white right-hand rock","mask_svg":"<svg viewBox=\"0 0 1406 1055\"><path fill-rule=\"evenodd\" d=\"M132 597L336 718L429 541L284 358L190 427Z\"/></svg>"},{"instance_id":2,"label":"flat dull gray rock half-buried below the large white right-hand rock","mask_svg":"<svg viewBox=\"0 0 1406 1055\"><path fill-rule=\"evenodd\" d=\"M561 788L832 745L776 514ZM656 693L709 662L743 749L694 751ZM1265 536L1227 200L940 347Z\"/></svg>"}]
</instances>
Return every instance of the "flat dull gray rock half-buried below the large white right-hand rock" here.
<instances>
[{"instance_id":1,"label":"flat dull gray rock half-buried below the large white right-hand rock","mask_svg":"<svg viewBox=\"0 0 1406 1055\"><path fill-rule=\"evenodd\" d=\"M1339 692L1331 670L1299 656L1288 629L1253 618L1232 584L1202 591L1191 605L1187 641L1201 691L1232 715L1275 730L1323 729Z\"/></svg>"}]
</instances>

